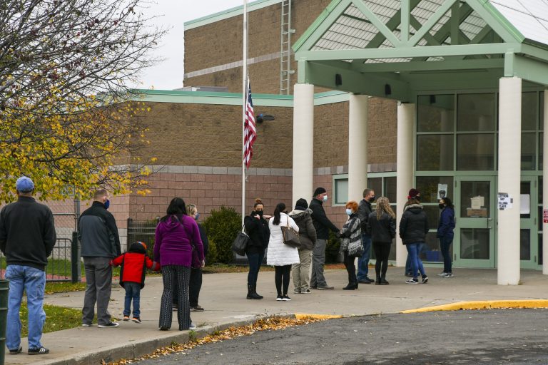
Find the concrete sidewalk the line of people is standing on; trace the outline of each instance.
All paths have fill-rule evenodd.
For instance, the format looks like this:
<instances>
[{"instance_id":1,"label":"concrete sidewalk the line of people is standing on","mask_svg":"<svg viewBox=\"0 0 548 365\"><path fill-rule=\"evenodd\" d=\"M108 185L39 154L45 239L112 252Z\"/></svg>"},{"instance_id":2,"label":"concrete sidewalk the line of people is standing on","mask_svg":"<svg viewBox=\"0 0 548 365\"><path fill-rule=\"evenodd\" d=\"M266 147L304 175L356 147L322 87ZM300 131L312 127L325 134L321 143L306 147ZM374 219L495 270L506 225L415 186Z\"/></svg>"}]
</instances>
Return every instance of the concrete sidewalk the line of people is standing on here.
<instances>
[{"instance_id":1,"label":"concrete sidewalk the line of people is standing on","mask_svg":"<svg viewBox=\"0 0 548 365\"><path fill-rule=\"evenodd\" d=\"M373 269L374 271L374 269ZM274 272L260 272L258 292L263 300L246 300L247 274L205 274L200 304L205 312L191 312L198 326L198 336L213 329L223 329L233 324L253 322L256 317L272 314L379 314L405 309L429 307L452 302L497 299L545 299L548 297L548 277L539 271L522 271L522 285L497 285L494 269L455 269L455 277L438 278L439 269L427 269L428 284L405 284L402 268L390 268L387 279L390 285L360 284L355 291L344 291L347 284L345 270L328 270L328 284L333 291L313 290L311 294L293 294L291 302L275 301ZM163 289L161 277L148 277L141 292L142 324L120 322L118 328L78 327L44 334L42 343L51 353L41 356L26 355L27 341L22 341L23 353L6 354L6 364L100 364L121 358L148 354L173 341L188 340L188 331L178 331L176 314L170 331L158 330L160 297ZM124 292L113 285L109 310L113 317L123 317ZM81 309L83 292L46 296L47 304Z\"/></svg>"}]
</instances>

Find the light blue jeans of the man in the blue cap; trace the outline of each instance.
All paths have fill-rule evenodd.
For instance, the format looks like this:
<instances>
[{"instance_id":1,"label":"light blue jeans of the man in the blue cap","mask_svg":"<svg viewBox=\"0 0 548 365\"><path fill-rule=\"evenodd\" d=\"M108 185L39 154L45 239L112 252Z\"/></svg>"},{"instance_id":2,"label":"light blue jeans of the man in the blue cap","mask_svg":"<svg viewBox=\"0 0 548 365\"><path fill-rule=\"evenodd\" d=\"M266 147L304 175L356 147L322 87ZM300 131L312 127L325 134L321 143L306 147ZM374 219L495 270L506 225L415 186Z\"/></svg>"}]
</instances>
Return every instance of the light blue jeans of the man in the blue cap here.
<instances>
[{"instance_id":1,"label":"light blue jeans of the man in the blue cap","mask_svg":"<svg viewBox=\"0 0 548 365\"><path fill-rule=\"evenodd\" d=\"M42 327L46 322L44 312L44 289L46 272L30 266L9 265L6 268L9 279L8 323L6 328L6 346L10 350L21 346L21 299L26 292L26 306L29 308L29 349L39 349L42 345ZM4 349L2 349L4 351Z\"/></svg>"}]
</instances>

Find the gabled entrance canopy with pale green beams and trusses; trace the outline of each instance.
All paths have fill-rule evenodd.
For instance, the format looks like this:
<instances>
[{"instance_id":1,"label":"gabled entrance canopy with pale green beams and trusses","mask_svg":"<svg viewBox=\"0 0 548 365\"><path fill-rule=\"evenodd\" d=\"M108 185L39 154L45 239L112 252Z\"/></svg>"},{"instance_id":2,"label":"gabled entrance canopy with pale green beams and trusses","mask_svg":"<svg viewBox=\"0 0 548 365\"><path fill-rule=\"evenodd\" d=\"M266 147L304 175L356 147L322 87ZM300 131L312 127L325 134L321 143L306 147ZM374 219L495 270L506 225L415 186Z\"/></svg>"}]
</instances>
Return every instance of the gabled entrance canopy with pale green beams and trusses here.
<instances>
[{"instance_id":1,"label":"gabled entrance canopy with pale green beams and trusses","mask_svg":"<svg viewBox=\"0 0 548 365\"><path fill-rule=\"evenodd\" d=\"M333 0L293 51L299 83L403 102L502 76L548 86L548 1Z\"/></svg>"}]
</instances>

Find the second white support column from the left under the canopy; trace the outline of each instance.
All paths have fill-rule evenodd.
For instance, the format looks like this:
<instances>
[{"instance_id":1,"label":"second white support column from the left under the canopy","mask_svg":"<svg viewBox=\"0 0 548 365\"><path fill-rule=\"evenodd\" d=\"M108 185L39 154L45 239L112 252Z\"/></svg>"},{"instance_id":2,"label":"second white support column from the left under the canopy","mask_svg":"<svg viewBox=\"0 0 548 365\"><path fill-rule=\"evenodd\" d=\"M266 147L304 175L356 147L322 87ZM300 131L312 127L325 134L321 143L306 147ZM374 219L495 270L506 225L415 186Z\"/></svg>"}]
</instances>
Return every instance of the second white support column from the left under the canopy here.
<instances>
[{"instance_id":1,"label":"second white support column from the left under the canopy","mask_svg":"<svg viewBox=\"0 0 548 365\"><path fill-rule=\"evenodd\" d=\"M348 200L362 200L367 187L367 95L350 94L348 113Z\"/></svg>"}]
</instances>

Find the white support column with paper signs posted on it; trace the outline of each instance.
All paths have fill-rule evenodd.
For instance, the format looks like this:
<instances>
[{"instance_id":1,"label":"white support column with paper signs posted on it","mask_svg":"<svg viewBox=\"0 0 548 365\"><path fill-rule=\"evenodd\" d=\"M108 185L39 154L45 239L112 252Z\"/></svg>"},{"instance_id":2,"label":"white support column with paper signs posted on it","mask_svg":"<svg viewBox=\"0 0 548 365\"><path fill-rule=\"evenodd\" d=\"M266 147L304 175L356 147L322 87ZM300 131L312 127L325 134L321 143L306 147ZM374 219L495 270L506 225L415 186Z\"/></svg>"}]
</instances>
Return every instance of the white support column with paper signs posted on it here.
<instances>
[{"instance_id":1,"label":"white support column with paper signs posted on it","mask_svg":"<svg viewBox=\"0 0 548 365\"><path fill-rule=\"evenodd\" d=\"M497 282L519 284L519 187L521 182L522 79L499 80L498 192L506 192L512 208L499 210L497 225ZM498 207L497 207L498 209Z\"/></svg>"}]
</instances>

